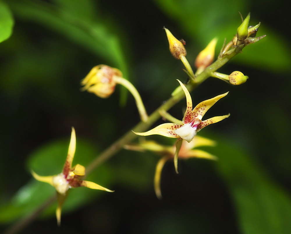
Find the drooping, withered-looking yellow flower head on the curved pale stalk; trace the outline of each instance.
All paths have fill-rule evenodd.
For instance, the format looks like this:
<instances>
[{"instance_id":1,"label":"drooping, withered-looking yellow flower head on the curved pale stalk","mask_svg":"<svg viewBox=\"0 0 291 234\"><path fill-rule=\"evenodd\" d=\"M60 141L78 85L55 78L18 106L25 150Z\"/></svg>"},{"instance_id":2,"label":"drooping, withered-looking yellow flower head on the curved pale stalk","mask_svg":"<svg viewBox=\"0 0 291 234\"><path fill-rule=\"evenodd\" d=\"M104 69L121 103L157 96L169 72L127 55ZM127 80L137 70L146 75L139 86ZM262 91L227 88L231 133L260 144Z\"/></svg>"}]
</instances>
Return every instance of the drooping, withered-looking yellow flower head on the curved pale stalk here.
<instances>
[{"instance_id":1,"label":"drooping, withered-looking yellow flower head on the curved pale stalk","mask_svg":"<svg viewBox=\"0 0 291 234\"><path fill-rule=\"evenodd\" d=\"M81 81L81 85L84 85L82 91L87 90L98 97L107 98L114 92L116 86L114 77L122 77L121 71L103 64L95 66Z\"/></svg>"}]
</instances>

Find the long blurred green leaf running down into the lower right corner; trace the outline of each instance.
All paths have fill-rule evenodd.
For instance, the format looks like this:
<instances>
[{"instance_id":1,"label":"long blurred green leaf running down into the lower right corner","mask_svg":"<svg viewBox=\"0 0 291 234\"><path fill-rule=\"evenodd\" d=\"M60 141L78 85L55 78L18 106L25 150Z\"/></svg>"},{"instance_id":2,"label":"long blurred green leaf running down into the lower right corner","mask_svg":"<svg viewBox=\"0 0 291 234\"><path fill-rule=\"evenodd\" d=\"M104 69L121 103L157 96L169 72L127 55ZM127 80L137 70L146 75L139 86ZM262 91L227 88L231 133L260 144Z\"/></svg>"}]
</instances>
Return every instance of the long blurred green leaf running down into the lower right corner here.
<instances>
[{"instance_id":1,"label":"long blurred green leaf running down into the lower right corner","mask_svg":"<svg viewBox=\"0 0 291 234\"><path fill-rule=\"evenodd\" d=\"M290 196L251 153L221 136L213 139L218 139L218 146L208 151L219 158L218 170L233 197L242 233L290 233Z\"/></svg>"}]
</instances>

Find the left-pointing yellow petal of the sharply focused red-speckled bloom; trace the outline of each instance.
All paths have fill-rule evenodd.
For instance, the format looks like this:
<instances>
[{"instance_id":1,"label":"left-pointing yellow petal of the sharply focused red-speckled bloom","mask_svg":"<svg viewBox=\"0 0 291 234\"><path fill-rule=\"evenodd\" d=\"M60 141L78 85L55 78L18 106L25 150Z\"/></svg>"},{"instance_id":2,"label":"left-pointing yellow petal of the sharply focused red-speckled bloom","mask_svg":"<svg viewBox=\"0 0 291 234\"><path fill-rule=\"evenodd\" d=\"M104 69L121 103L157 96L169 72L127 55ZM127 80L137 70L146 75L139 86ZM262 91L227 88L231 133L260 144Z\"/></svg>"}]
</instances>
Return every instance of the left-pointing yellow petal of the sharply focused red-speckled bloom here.
<instances>
[{"instance_id":1,"label":"left-pointing yellow petal of the sharply focused red-speckled bloom","mask_svg":"<svg viewBox=\"0 0 291 234\"><path fill-rule=\"evenodd\" d=\"M149 136L149 135L162 135L171 138L178 138L179 136L174 132L177 128L181 127L182 124L176 123L163 123L148 132L134 132L136 135Z\"/></svg>"}]
</instances>

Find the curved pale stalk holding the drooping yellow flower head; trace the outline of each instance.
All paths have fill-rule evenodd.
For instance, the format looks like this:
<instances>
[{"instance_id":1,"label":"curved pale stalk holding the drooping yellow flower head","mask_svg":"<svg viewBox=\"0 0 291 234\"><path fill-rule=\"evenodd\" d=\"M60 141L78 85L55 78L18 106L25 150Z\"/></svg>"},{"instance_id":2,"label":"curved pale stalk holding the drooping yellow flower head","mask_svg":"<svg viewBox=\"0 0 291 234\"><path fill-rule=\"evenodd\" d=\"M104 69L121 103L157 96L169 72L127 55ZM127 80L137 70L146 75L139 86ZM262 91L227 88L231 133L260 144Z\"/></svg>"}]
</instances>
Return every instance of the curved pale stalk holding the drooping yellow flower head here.
<instances>
[{"instance_id":1,"label":"curved pale stalk holding the drooping yellow flower head","mask_svg":"<svg viewBox=\"0 0 291 234\"><path fill-rule=\"evenodd\" d=\"M141 100L141 95L139 95L139 92L136 90L136 88L133 86L132 83L130 83L127 79L124 79L123 77L114 77L114 80L116 83L123 85L125 88L129 90L129 92L133 95L136 107L139 111L139 115L141 116L141 120L143 122L148 121L148 114L146 113L145 107L143 105L143 101Z\"/></svg>"}]
</instances>

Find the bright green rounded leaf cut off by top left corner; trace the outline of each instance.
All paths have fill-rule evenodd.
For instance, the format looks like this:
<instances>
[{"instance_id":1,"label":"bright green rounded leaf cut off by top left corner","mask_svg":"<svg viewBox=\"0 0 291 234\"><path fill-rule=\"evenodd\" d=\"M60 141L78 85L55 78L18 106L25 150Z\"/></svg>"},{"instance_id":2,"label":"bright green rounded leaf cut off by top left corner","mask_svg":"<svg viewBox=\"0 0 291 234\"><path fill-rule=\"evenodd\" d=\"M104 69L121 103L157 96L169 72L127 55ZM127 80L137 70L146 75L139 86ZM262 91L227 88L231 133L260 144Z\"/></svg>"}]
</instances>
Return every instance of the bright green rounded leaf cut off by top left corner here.
<instances>
[{"instance_id":1,"label":"bright green rounded leaf cut off by top left corner","mask_svg":"<svg viewBox=\"0 0 291 234\"><path fill-rule=\"evenodd\" d=\"M14 20L10 9L0 1L0 42L7 40L11 36L13 25Z\"/></svg>"}]
</instances>

